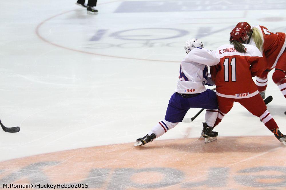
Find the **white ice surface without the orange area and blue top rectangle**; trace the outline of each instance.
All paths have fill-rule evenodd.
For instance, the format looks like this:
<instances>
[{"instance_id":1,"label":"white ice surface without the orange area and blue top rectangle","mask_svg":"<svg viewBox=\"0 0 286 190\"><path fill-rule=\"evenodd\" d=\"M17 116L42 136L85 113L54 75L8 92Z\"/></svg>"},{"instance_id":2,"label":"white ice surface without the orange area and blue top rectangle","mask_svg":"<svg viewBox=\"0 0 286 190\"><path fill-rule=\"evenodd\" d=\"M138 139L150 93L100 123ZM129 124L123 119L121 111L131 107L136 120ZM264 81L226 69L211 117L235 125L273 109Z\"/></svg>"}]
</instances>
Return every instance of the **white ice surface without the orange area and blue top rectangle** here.
<instances>
[{"instance_id":1,"label":"white ice surface without the orange area and blue top rectangle","mask_svg":"<svg viewBox=\"0 0 286 190\"><path fill-rule=\"evenodd\" d=\"M215 49L228 43L240 21L286 32L286 7L114 13L123 1L100 0L99 14L87 15L75 1L0 2L0 118L8 127L21 127L17 134L0 131L0 161L134 142L164 118L187 39ZM154 40L178 35L177 29L188 33ZM90 41L100 31L101 38ZM274 99L268 109L285 132L286 101L271 75L267 96ZM203 120L201 114L191 124L180 123L160 139L198 137ZM272 135L237 104L216 129L220 136Z\"/></svg>"}]
</instances>

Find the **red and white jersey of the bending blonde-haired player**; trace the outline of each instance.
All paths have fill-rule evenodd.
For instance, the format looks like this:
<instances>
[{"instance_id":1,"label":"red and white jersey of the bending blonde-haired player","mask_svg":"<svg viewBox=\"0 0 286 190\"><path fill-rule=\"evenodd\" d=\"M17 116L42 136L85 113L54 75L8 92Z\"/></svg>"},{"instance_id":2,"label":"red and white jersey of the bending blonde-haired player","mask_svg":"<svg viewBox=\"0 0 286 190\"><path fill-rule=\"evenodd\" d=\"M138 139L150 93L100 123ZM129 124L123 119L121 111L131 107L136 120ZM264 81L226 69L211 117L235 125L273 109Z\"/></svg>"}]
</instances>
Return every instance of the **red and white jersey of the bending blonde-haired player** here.
<instances>
[{"instance_id":1,"label":"red and white jersey of the bending blonde-haired player","mask_svg":"<svg viewBox=\"0 0 286 190\"><path fill-rule=\"evenodd\" d=\"M263 26L252 26L252 28L259 29L260 34L263 36L263 56L266 58L265 69L275 68L286 47L285 33L273 33ZM256 46L253 37L251 37L249 44Z\"/></svg>"}]
</instances>

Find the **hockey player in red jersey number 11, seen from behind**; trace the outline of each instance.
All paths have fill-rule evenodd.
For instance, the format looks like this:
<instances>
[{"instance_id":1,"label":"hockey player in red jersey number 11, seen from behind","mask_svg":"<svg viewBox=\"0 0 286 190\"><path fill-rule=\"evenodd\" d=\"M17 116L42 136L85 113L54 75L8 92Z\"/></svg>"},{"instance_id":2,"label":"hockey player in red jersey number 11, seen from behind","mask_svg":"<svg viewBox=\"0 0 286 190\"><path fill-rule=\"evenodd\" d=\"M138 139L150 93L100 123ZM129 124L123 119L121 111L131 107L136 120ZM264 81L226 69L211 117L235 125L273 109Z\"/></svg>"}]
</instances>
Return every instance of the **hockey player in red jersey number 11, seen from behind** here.
<instances>
[{"instance_id":1,"label":"hockey player in red jersey number 11, seen from behind","mask_svg":"<svg viewBox=\"0 0 286 190\"><path fill-rule=\"evenodd\" d=\"M214 126L231 110L233 102L238 102L259 117L275 137L286 145L286 136L279 131L252 80L253 76L261 76L265 59L257 47L247 45L248 41L247 31L237 27L231 32L231 45L222 45L216 50L220 62L211 68L211 75L217 85L219 114Z\"/></svg>"}]
</instances>

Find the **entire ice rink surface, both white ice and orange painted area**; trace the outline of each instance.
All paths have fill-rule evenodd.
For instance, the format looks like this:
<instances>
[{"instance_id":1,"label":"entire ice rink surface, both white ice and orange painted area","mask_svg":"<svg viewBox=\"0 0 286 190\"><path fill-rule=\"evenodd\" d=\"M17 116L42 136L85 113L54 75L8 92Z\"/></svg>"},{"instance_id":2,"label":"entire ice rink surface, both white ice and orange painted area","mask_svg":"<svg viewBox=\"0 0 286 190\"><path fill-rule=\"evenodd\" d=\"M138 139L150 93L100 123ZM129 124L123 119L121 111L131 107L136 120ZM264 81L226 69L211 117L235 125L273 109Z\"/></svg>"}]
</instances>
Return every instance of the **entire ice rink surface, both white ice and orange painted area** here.
<instances>
[{"instance_id":1,"label":"entire ice rink surface, both white ice and orange painted area","mask_svg":"<svg viewBox=\"0 0 286 190\"><path fill-rule=\"evenodd\" d=\"M285 33L286 1L99 0L98 15L75 2L0 1L0 118L21 128L0 132L0 188L286 188L286 147L239 104L216 127L216 142L197 140L203 112L133 147L164 119L186 40L215 50L243 21ZM267 108L286 133L272 73Z\"/></svg>"}]
</instances>

